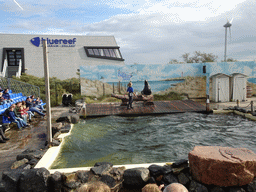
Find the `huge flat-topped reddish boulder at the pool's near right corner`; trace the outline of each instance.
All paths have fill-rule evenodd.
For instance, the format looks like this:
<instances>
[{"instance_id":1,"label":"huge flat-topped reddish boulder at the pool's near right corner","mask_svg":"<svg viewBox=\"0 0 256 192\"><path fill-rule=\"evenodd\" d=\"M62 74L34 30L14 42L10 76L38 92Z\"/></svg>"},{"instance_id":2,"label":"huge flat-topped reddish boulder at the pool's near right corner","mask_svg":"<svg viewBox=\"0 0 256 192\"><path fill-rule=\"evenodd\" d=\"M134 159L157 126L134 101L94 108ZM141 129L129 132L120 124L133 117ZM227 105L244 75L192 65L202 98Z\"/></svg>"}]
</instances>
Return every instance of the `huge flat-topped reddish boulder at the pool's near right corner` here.
<instances>
[{"instance_id":1,"label":"huge flat-topped reddish boulder at the pool's near right corner","mask_svg":"<svg viewBox=\"0 0 256 192\"><path fill-rule=\"evenodd\" d=\"M242 186L256 175L256 154L245 148L196 146L189 153L192 176L217 186Z\"/></svg>"}]
</instances>

